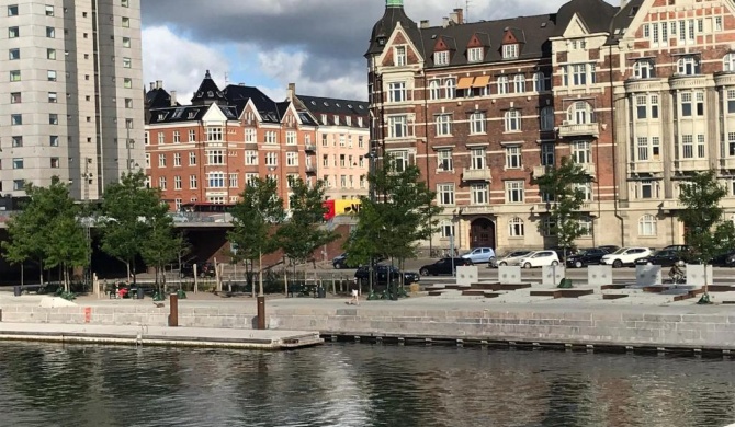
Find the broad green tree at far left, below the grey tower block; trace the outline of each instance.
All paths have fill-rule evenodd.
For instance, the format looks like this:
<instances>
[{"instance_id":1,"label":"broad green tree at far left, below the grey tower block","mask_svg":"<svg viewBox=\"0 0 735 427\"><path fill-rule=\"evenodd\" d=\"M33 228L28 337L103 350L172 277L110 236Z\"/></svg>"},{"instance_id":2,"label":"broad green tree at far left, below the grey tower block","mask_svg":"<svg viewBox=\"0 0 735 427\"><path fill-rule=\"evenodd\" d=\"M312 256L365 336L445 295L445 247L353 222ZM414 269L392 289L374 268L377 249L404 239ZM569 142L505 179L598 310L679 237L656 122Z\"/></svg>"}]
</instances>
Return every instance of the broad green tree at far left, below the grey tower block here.
<instances>
[{"instance_id":1,"label":"broad green tree at far left, below the grey tower block","mask_svg":"<svg viewBox=\"0 0 735 427\"><path fill-rule=\"evenodd\" d=\"M58 176L52 177L48 187L26 185L25 193L30 201L8 222L10 239L2 242L5 257L12 263L34 259L43 268L61 267L68 289L68 269L89 264L80 208Z\"/></svg>"}]
</instances>

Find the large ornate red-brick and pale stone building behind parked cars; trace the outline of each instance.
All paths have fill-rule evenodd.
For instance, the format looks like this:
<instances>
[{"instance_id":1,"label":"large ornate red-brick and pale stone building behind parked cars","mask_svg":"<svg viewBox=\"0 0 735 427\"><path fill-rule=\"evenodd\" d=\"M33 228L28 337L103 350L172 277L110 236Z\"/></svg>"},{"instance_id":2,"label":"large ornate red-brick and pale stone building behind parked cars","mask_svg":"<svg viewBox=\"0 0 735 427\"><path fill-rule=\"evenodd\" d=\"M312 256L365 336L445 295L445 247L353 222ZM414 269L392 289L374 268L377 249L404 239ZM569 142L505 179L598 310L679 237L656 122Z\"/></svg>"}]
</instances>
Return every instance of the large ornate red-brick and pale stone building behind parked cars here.
<instances>
[{"instance_id":1,"label":"large ornate red-brick and pale stone building behind parked cars","mask_svg":"<svg viewBox=\"0 0 735 427\"><path fill-rule=\"evenodd\" d=\"M592 177L580 246L681 243L689 174L716 170L735 212L733 8L572 0L476 23L455 9L430 26L386 0L366 54L371 143L437 191L434 246L556 244L539 231L550 203L535 178L563 157Z\"/></svg>"}]
</instances>

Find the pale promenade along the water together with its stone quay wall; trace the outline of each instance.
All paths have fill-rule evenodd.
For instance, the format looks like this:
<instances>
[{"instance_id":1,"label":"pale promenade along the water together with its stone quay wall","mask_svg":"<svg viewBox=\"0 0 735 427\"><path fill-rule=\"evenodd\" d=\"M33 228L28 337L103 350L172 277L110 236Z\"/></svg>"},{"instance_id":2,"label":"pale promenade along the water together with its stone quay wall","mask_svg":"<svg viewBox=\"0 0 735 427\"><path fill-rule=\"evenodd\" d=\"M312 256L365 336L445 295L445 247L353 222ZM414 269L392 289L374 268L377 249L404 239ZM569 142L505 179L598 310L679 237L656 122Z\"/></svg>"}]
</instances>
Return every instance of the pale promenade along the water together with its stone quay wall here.
<instances>
[{"instance_id":1,"label":"pale promenade along the water together with its stone quay wall","mask_svg":"<svg viewBox=\"0 0 735 427\"><path fill-rule=\"evenodd\" d=\"M512 293L512 292L511 292ZM147 300L82 298L70 307L41 307L49 297L0 297L2 323L53 325L131 325L166 328L168 303ZM717 297L719 298L719 297ZM271 331L310 331L323 336L361 339L461 341L465 343L615 347L618 349L735 350L732 305L697 305L696 299L671 302L665 296L638 300L487 299L416 296L399 301L275 298L267 303ZM45 303L45 305L49 305ZM50 304L53 305L53 304ZM181 330L201 328L203 336L222 330L251 330L256 301L247 297L191 296L179 301ZM39 325L41 324L41 325ZM2 327L0 327L2 330ZM250 331L248 331L249 333Z\"/></svg>"}]
</instances>

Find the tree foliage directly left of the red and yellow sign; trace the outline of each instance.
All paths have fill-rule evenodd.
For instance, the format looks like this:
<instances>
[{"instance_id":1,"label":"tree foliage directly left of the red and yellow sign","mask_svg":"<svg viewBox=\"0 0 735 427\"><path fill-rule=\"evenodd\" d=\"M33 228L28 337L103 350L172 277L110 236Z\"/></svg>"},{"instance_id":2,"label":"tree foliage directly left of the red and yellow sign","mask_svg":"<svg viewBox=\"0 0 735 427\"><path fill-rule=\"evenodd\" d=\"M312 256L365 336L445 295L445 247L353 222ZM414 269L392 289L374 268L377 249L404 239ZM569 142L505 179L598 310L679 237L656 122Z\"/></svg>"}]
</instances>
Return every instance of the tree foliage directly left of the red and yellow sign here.
<instances>
[{"instance_id":1,"label":"tree foliage directly left of the red and yellow sign","mask_svg":"<svg viewBox=\"0 0 735 427\"><path fill-rule=\"evenodd\" d=\"M294 262L308 261L314 251L335 241L339 234L324 227L325 186L309 186L299 177L289 176L291 215L276 233L283 253Z\"/></svg>"}]
</instances>

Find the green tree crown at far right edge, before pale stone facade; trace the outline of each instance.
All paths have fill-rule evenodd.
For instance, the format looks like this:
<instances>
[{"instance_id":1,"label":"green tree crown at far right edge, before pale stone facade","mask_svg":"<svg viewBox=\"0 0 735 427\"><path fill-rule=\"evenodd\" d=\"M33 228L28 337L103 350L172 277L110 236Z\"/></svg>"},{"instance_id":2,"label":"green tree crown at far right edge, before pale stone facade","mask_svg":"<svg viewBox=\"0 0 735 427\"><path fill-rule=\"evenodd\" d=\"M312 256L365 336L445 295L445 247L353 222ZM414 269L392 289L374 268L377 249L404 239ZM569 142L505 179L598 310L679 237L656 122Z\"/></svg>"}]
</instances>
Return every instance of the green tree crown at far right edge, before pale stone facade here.
<instances>
[{"instance_id":1,"label":"green tree crown at far right edge, before pale stone facade","mask_svg":"<svg viewBox=\"0 0 735 427\"><path fill-rule=\"evenodd\" d=\"M690 246L690 262L709 262L714 256L735 247L735 227L723 221L720 201L727 195L717 183L715 171L697 173L680 184L677 212L685 226L685 241Z\"/></svg>"}]
</instances>

